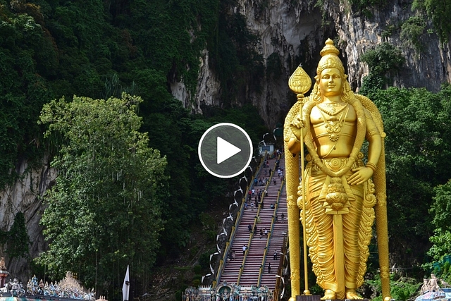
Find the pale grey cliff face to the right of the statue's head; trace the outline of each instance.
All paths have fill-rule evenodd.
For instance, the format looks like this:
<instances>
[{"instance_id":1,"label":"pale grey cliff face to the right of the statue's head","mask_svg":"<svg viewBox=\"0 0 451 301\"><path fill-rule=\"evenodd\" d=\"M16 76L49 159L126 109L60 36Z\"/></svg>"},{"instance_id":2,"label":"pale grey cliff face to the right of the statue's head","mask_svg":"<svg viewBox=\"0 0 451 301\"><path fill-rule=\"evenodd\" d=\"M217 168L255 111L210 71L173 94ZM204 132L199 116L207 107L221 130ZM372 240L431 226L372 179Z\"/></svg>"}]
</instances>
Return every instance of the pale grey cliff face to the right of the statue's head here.
<instances>
[{"instance_id":1,"label":"pale grey cliff face to the right of the statue's head","mask_svg":"<svg viewBox=\"0 0 451 301\"><path fill-rule=\"evenodd\" d=\"M440 45L437 35L428 34L425 29L420 37L424 50L418 51L409 40L401 38L400 30L393 30L391 35L387 35L390 27L403 24L414 16L411 4L403 0L390 1L381 11L375 11L373 18L368 20L349 13L350 8L343 4L330 5L330 17L334 20L338 37L342 41L340 50L347 58L350 82L354 87L362 85L362 77L368 73L365 64L360 61L362 54L381 42L389 42L399 48L406 59L404 67L393 78L393 86L426 87L428 90L438 91L443 82L451 81L449 43Z\"/></svg>"}]
</instances>

